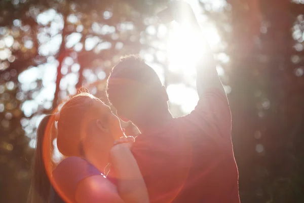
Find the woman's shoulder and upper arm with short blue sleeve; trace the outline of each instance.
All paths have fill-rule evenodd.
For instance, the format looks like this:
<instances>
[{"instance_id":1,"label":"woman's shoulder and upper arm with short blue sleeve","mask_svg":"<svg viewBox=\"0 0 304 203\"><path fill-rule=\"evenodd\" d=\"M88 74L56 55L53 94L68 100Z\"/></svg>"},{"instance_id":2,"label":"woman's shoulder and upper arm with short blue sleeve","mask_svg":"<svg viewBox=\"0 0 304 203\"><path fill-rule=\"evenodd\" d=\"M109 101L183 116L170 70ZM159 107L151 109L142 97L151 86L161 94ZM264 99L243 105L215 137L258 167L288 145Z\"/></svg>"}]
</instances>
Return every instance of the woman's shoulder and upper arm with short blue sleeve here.
<instances>
[{"instance_id":1,"label":"woman's shoulder and upper arm with short blue sleeve","mask_svg":"<svg viewBox=\"0 0 304 203\"><path fill-rule=\"evenodd\" d=\"M80 157L61 161L53 171L52 184L64 202L124 202L116 185Z\"/></svg>"}]
</instances>

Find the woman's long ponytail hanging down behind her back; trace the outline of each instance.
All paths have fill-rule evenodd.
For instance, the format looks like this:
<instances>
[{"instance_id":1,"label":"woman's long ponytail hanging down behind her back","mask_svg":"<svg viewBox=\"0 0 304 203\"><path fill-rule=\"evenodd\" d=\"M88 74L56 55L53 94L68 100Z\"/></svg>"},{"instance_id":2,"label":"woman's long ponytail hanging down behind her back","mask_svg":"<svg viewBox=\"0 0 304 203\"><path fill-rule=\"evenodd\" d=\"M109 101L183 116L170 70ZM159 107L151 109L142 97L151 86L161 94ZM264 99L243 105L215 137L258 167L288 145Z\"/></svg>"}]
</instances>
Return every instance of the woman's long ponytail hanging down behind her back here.
<instances>
[{"instance_id":1,"label":"woman's long ponytail hanging down behind her back","mask_svg":"<svg viewBox=\"0 0 304 203\"><path fill-rule=\"evenodd\" d=\"M36 137L36 150L33 157L33 163L31 167L31 183L28 195L28 203L45 203L49 202L51 183L48 176L48 170L46 170L45 162L51 163L53 161L50 157L50 160L45 159L45 147L46 143L49 150L48 152L52 154L53 146L51 136L54 129L54 115L45 116L40 122L37 128L37 137ZM47 141L47 142L45 142ZM47 166L48 167L48 166Z\"/></svg>"}]
</instances>

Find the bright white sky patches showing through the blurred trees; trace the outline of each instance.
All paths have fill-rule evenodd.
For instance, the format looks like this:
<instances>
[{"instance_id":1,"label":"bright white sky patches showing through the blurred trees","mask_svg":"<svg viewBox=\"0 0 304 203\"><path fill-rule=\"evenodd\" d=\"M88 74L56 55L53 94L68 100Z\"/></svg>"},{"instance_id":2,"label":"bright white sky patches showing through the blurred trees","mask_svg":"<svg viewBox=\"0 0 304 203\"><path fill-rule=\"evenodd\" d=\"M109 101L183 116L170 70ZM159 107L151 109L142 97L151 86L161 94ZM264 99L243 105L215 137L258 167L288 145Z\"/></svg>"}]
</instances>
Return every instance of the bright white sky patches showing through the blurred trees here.
<instances>
[{"instance_id":1,"label":"bright white sky patches showing through the blurred trees","mask_svg":"<svg viewBox=\"0 0 304 203\"><path fill-rule=\"evenodd\" d=\"M198 0L189 0L187 1L194 8L197 18L200 23L204 25L203 30L205 34L205 38L211 47L216 47L221 39L218 35L218 32L214 25L208 22L208 19L201 15L202 12L200 10L200 6ZM201 0L201 2L208 3L207 9L209 10L222 10L226 5L224 0ZM105 16L110 16L111 14L105 13ZM68 20L70 22L77 21L76 16L69 16ZM62 17L56 13L55 10L50 9L45 11L37 16L37 22L42 25L46 25L51 22L51 29L47 30L47 32L51 35L51 38L47 35L46 31L41 31L38 35L38 39L41 43L40 46L40 54L42 55L53 55L55 54L59 46L61 44L61 36L59 34L60 30L63 27ZM14 24L18 24L18 20ZM81 32L83 29L82 26L78 26L77 30ZM98 27L94 27L93 29L98 30L101 33L111 33L115 32L115 27L112 26L103 26L101 29ZM122 23L120 29L132 30L132 23ZM191 61L193 59L200 57L200 50L198 50L195 46L196 39L192 37L191 30L185 31L176 23L171 25L169 32L167 32L167 28L165 25L161 25L158 29L154 26L149 26L146 30L148 34L164 36L166 33L169 35L169 40L167 42L161 42L166 46L168 51L168 70L172 73L178 73L184 77L184 81L187 81L187 84L169 84L167 86L168 95L170 98L170 102L175 105L179 105L184 114L191 112L198 101L198 95L195 88L196 81L196 71L194 65L191 65ZM67 38L66 46L68 48L73 48L75 51L80 51L81 49L91 50L93 49L97 43L97 48L99 50L110 48L111 44L107 42L102 42L102 39L98 37L92 37L86 40L85 46L79 42L81 39L81 33L73 33ZM185 41L184 39L191 39L191 41ZM11 47L13 46L14 39L11 36L0 40L0 48L1 46ZM32 46L32 42L28 40L26 46L30 48ZM121 47L120 47L121 48ZM202 47L201 47L202 48ZM191 50L191 51L188 51ZM0 53L0 59L6 59L10 55L9 49L4 49ZM153 59L151 58L151 54L147 51L141 52L142 57L146 60L147 63ZM164 52L158 52L158 59L166 60L166 54ZM219 55L221 60L229 61L229 57L225 54ZM21 89L23 91L28 91L34 89L36 87L36 79L42 79L43 88L40 92L36 92L33 100L27 100L22 105L22 110L26 116L30 116L32 112L35 112L38 104L43 104L44 108L51 108L52 100L55 92L55 80L56 80L56 69L58 66L58 61L53 57L48 57L46 63L39 65L38 67L29 67L28 70L24 71L19 75L19 82L22 84ZM66 74L60 83L61 89L67 89L69 94L76 93L75 84L78 81L78 71L80 69L80 65L78 63L74 63L71 57L67 57L64 60L64 64L62 66L62 73L67 73L67 67L71 66L72 73ZM159 64L151 65L155 71L158 73L160 78L164 81L164 70L163 67ZM224 71L221 67L217 67L217 71L219 75L224 75ZM105 78L105 73L100 69L99 73L93 73L91 70L86 70L84 72L85 78L93 83L97 80L102 80ZM227 89L227 88L226 88ZM228 88L229 91L229 88ZM19 95L22 97L22 95ZM63 95L65 96L65 95ZM40 118L35 119L34 123L37 126L40 122ZM31 127L27 125L28 123L24 121L25 131L28 137L34 138L34 134L31 133ZM34 146L34 140L30 142L30 146Z\"/></svg>"}]
</instances>

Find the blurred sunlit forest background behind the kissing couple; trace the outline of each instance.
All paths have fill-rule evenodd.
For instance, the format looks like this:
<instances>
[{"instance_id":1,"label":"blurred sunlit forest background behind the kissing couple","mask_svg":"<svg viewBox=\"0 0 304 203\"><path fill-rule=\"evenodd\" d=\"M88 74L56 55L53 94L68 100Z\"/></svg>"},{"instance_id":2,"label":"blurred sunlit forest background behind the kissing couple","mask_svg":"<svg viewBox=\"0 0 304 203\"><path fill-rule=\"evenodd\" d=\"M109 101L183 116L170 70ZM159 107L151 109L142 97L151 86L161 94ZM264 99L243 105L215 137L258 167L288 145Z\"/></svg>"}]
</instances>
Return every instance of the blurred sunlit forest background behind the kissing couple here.
<instances>
[{"instance_id":1,"label":"blurred sunlit forest background behind the kissing couple","mask_svg":"<svg viewBox=\"0 0 304 203\"><path fill-rule=\"evenodd\" d=\"M187 2L229 97L241 202L304 202L304 1ZM26 202L42 117L82 86L104 98L121 55L155 69L175 117L194 109L196 51L178 51L188 33L159 22L167 3L0 1L0 202Z\"/></svg>"}]
</instances>

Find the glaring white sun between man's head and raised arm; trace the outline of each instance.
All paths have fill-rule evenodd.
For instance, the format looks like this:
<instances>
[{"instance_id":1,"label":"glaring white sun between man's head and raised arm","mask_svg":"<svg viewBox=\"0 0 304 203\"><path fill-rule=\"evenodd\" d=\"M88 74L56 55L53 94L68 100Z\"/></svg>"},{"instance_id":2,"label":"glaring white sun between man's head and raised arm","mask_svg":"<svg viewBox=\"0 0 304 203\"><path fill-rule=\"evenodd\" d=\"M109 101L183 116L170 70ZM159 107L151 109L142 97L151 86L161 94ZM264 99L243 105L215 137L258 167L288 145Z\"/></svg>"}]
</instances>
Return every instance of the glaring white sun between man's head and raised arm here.
<instances>
[{"instance_id":1,"label":"glaring white sun between man's head and raised arm","mask_svg":"<svg viewBox=\"0 0 304 203\"><path fill-rule=\"evenodd\" d=\"M211 51L209 46L216 48L221 40L212 24L202 26L202 33L202 35L197 35L191 27L174 22L169 29L168 70L181 76L183 81L178 84L169 84L167 92L170 102L179 105L185 114L190 113L199 100L195 90L197 62L199 59L204 61L204 53ZM209 46L206 46L204 41Z\"/></svg>"}]
</instances>

